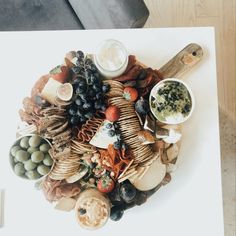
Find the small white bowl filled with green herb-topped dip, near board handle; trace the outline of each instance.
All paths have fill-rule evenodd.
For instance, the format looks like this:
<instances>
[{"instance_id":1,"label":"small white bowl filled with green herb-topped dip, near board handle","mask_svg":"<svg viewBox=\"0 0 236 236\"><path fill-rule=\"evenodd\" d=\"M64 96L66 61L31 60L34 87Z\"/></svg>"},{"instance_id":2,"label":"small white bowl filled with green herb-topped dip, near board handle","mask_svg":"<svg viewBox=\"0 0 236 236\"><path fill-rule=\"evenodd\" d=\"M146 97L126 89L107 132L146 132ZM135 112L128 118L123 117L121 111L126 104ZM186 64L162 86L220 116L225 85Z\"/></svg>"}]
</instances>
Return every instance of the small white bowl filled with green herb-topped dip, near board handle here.
<instances>
[{"instance_id":1,"label":"small white bowl filled with green herb-topped dip, near board handle","mask_svg":"<svg viewBox=\"0 0 236 236\"><path fill-rule=\"evenodd\" d=\"M165 85L169 87L164 90ZM177 90L179 88L181 91ZM160 81L152 88L149 105L152 114L158 121L163 124L176 125L185 122L192 115L195 99L186 83L176 78L168 78ZM181 109L181 112L175 109Z\"/></svg>"}]
</instances>

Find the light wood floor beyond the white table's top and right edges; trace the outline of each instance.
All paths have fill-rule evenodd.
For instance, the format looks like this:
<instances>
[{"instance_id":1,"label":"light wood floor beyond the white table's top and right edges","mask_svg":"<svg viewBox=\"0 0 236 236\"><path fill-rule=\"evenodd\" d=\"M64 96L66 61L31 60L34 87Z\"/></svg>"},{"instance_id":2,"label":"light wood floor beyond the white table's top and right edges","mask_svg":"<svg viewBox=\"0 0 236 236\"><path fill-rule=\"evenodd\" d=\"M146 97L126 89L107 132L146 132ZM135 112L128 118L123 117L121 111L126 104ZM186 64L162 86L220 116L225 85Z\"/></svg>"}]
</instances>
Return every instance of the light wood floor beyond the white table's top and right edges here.
<instances>
[{"instance_id":1,"label":"light wood floor beyond the white table's top and right edges","mask_svg":"<svg viewBox=\"0 0 236 236\"><path fill-rule=\"evenodd\" d=\"M215 26L219 106L236 121L236 0L144 0L145 27Z\"/></svg>"}]
</instances>

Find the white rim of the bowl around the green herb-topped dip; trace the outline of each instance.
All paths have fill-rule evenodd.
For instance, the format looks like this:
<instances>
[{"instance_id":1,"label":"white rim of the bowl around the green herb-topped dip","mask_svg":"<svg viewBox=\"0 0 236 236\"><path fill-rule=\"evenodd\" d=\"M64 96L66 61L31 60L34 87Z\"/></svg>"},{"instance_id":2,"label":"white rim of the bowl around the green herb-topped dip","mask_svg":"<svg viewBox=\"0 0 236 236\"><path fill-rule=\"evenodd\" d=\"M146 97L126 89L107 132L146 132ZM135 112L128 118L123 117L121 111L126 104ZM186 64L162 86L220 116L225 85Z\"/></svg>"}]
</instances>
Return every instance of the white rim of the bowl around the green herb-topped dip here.
<instances>
[{"instance_id":1,"label":"white rim of the bowl around the green herb-topped dip","mask_svg":"<svg viewBox=\"0 0 236 236\"><path fill-rule=\"evenodd\" d=\"M151 106L151 97L156 97L156 94L157 94L158 90L163 86L163 84L165 84L166 82L171 82L171 81L181 83L181 84L184 85L184 87L187 89L187 91L188 91L188 93L189 93L189 96L190 96L190 99L191 99L191 110L189 111L188 115L182 116L182 117L180 117L180 119L171 119L171 120L169 120L169 121L166 121L166 120L161 120L161 119L156 115L156 113L155 113L155 111L154 111L154 108L152 108L152 106ZM154 117L155 117L158 121L160 121L160 122L163 123L163 124L176 125L176 124L181 124L181 123L185 122L185 121L188 120L189 117L192 115L193 110L194 110L194 108L195 108L195 99L194 99L192 90L189 88L189 86L188 86L185 82L183 82L183 81L181 81L181 80L179 80L179 79L176 79L176 78L167 78L167 79L164 79L164 80L160 81L159 83L157 83L157 84L152 88L152 90L151 90L151 92L150 92L150 96L149 96L149 104L150 104L150 110L151 110L152 114L154 115Z\"/></svg>"}]
</instances>

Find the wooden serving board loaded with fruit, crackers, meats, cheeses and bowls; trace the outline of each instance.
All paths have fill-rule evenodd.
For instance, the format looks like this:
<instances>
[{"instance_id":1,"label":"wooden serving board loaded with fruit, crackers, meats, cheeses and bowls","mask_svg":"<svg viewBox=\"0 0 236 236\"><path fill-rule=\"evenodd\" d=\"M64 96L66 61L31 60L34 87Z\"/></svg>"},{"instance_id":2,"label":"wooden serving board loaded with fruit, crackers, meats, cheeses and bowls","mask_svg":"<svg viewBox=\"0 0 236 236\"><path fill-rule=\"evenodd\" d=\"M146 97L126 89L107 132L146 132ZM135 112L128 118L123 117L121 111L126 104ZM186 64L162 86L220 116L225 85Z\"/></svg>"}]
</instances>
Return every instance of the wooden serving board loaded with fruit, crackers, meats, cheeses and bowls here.
<instances>
[{"instance_id":1,"label":"wooden serving board loaded with fruit, crackers, meats, cheeses and bowls","mask_svg":"<svg viewBox=\"0 0 236 236\"><path fill-rule=\"evenodd\" d=\"M99 50L69 51L35 82L19 110L25 126L10 149L15 174L40 179L45 198L58 210L75 209L78 223L90 230L109 218L119 221L171 181L180 124L193 113L194 97L183 82L166 79L165 70L184 72L203 55L189 44L157 70L125 54L117 40ZM162 122L156 112L172 121Z\"/></svg>"}]
</instances>

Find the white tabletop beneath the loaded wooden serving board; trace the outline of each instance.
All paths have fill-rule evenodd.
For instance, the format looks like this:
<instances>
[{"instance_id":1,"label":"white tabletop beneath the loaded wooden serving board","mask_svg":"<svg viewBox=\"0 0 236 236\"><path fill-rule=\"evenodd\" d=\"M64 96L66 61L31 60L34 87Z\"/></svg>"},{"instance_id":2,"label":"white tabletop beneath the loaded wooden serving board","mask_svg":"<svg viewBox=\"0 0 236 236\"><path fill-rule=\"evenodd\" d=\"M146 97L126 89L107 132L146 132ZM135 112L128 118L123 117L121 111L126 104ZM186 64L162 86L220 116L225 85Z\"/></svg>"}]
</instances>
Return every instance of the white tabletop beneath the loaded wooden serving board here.
<instances>
[{"instance_id":1,"label":"white tabletop beneath the loaded wooden serving board","mask_svg":"<svg viewBox=\"0 0 236 236\"><path fill-rule=\"evenodd\" d=\"M173 180L142 207L96 232L82 230L74 213L56 211L33 183L17 178L8 164L17 111L37 78L60 64L67 51L94 52L107 38L122 41L147 65L159 68L191 42L205 56L182 77L192 88L196 109L184 125L178 169ZM0 188L6 189L5 225L10 235L223 236L220 145L213 28L169 28L0 34L1 154Z\"/></svg>"}]
</instances>

